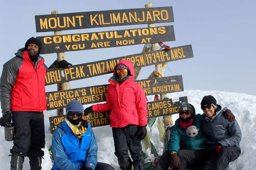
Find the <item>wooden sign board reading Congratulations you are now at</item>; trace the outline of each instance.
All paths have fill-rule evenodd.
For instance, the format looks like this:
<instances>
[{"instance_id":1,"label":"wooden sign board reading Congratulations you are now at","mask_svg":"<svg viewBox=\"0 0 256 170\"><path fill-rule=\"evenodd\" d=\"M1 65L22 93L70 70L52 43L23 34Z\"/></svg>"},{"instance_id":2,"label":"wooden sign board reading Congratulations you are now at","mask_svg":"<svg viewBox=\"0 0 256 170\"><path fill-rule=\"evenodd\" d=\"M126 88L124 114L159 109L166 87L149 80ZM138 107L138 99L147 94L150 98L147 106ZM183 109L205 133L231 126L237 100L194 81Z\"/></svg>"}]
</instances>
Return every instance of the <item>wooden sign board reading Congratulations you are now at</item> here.
<instances>
[{"instance_id":1,"label":"wooden sign board reading Congratulations you are now at","mask_svg":"<svg viewBox=\"0 0 256 170\"><path fill-rule=\"evenodd\" d=\"M37 37L40 54L175 41L173 26Z\"/></svg>"}]
</instances>

